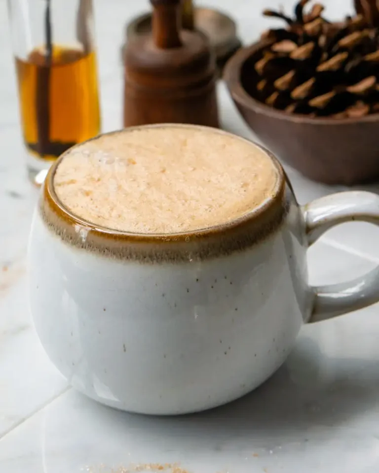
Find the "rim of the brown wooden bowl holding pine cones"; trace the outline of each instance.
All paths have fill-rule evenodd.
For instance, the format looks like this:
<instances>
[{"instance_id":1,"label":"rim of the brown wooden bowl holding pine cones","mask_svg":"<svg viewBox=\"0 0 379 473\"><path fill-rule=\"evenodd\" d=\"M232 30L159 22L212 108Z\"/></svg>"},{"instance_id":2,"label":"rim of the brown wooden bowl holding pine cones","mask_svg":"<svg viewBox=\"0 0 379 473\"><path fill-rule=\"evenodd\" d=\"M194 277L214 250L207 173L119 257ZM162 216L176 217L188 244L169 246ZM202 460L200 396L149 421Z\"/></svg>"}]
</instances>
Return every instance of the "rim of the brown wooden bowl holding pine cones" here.
<instances>
[{"instance_id":1,"label":"rim of the brown wooden bowl holding pine cones","mask_svg":"<svg viewBox=\"0 0 379 473\"><path fill-rule=\"evenodd\" d=\"M254 110L256 113L267 115L277 120L288 121L292 123L307 123L314 125L341 126L355 123L367 123L379 121L379 113L366 115L361 118L328 118L328 117L309 117L307 115L287 113L284 110L278 110L270 107L251 97L243 88L241 83L242 67L245 62L260 49L265 47L267 42L259 41L250 46L239 49L227 62L223 78L227 83L229 92L233 100L245 108Z\"/></svg>"}]
</instances>

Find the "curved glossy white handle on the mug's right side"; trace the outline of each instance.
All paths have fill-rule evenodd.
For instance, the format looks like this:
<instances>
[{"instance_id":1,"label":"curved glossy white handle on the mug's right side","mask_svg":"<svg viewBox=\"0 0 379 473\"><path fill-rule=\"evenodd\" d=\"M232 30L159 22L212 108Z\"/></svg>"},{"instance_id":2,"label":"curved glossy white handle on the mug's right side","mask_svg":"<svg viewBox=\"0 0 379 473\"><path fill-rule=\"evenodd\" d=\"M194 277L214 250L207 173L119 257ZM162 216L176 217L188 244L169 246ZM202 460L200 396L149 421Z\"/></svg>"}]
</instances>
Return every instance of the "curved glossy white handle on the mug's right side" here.
<instances>
[{"instance_id":1,"label":"curved glossy white handle on the mug's right side","mask_svg":"<svg viewBox=\"0 0 379 473\"><path fill-rule=\"evenodd\" d=\"M379 196L349 191L322 197L302 207L308 244L343 222L361 221L379 226ZM358 310L379 301L379 267L341 284L315 286L313 311L308 323Z\"/></svg>"}]
</instances>

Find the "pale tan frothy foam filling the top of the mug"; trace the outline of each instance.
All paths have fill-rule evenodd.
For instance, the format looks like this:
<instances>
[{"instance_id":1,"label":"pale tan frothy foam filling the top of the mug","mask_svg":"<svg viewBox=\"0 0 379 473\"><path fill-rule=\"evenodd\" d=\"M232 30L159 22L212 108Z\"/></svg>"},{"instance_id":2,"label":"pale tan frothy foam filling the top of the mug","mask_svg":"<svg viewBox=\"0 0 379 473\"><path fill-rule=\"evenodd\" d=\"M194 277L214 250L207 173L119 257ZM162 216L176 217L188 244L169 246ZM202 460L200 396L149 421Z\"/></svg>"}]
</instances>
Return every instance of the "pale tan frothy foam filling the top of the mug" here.
<instances>
[{"instance_id":1,"label":"pale tan frothy foam filling the top of the mug","mask_svg":"<svg viewBox=\"0 0 379 473\"><path fill-rule=\"evenodd\" d=\"M59 164L54 188L66 208L93 224L172 234L235 220L273 196L277 180L254 144L173 125L83 143Z\"/></svg>"}]
</instances>

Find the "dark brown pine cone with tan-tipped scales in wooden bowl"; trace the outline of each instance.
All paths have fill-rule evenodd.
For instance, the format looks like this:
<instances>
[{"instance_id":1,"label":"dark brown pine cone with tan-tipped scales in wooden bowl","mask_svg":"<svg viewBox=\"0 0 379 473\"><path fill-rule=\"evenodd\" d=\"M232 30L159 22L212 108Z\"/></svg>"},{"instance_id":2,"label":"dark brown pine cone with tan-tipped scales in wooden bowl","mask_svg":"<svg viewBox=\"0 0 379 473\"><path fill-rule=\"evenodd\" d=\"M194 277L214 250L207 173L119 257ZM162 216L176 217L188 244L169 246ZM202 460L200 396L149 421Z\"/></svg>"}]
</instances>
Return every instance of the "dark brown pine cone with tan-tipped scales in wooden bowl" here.
<instances>
[{"instance_id":1,"label":"dark brown pine cone with tan-tipped scales in wooden bowl","mask_svg":"<svg viewBox=\"0 0 379 473\"><path fill-rule=\"evenodd\" d=\"M287 23L263 34L263 47L245 67L245 88L289 113L336 118L379 111L379 7L355 0L357 14L330 23L324 7L301 0L294 17L265 10ZM253 67L252 67L253 66ZM254 69L253 69L254 68ZM251 78L253 79L251 81Z\"/></svg>"}]
</instances>

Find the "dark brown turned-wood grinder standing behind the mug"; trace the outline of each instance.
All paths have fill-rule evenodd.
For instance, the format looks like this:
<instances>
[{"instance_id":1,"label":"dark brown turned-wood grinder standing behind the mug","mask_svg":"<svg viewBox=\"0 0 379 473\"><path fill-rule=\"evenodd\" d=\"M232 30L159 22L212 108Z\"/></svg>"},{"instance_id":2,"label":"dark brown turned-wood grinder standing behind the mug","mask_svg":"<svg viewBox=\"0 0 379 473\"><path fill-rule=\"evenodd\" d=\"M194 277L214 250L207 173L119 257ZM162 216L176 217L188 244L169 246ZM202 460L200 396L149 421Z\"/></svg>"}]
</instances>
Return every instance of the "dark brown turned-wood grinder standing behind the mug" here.
<instances>
[{"instance_id":1,"label":"dark brown turned-wood grinder standing behind the mug","mask_svg":"<svg viewBox=\"0 0 379 473\"><path fill-rule=\"evenodd\" d=\"M125 48L124 127L218 127L215 59L201 33L179 32L180 0L151 0L152 34Z\"/></svg>"}]
</instances>

